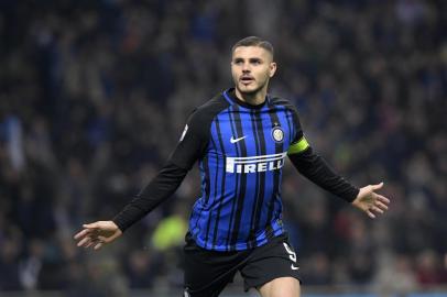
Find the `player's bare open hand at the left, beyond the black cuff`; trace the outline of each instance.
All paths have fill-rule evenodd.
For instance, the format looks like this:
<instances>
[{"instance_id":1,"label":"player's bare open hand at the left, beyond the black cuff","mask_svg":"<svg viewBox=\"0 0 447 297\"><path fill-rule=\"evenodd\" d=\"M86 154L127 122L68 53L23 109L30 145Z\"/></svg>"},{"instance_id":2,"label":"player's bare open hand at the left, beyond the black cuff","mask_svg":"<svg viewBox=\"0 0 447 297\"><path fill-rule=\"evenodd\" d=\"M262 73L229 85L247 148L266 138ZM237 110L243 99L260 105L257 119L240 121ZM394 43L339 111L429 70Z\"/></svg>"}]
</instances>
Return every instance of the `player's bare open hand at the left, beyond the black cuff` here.
<instances>
[{"instance_id":1,"label":"player's bare open hand at the left, beyond the black cuff","mask_svg":"<svg viewBox=\"0 0 447 297\"><path fill-rule=\"evenodd\" d=\"M83 224L83 228L84 230L75 235L75 240L78 240L77 246L86 249L92 246L94 250L99 250L102 245L115 241L122 234L122 231L113 221L97 221Z\"/></svg>"}]
</instances>

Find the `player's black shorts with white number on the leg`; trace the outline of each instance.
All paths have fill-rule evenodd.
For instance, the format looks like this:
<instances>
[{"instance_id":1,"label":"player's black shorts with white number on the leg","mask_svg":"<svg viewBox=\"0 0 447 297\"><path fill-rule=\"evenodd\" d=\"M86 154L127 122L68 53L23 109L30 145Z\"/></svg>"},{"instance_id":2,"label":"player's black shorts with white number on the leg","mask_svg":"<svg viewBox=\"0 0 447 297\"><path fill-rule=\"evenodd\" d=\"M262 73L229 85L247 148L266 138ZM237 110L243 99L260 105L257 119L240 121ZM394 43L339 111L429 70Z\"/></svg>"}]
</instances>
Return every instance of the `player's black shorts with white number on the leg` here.
<instances>
[{"instance_id":1,"label":"player's black shorts with white number on the leg","mask_svg":"<svg viewBox=\"0 0 447 297\"><path fill-rule=\"evenodd\" d=\"M184 246L184 296L216 297L239 271L246 292L270 280L291 276L299 280L296 253L286 234L247 251L217 252L198 246L189 233Z\"/></svg>"}]
</instances>

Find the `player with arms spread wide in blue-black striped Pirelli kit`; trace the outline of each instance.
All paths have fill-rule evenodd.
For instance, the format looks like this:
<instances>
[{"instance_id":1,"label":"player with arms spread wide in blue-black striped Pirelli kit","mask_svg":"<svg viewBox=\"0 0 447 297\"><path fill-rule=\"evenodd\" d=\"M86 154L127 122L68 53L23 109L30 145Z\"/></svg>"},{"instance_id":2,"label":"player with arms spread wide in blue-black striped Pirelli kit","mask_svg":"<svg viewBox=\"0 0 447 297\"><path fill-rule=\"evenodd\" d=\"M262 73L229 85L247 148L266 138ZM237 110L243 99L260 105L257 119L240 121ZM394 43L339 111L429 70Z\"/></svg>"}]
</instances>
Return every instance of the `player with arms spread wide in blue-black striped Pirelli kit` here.
<instances>
[{"instance_id":1,"label":"player with arms spread wide in blue-black striped Pirelli kit","mask_svg":"<svg viewBox=\"0 0 447 297\"><path fill-rule=\"evenodd\" d=\"M185 296L218 296L239 271L248 290L262 297L299 296L299 266L282 223L281 178L285 157L305 177L375 218L390 200L356 188L314 153L298 113L268 95L276 72L272 45L259 37L232 47L235 88L189 116L166 165L111 221L85 224L78 246L100 249L171 196L198 161L201 194L184 248Z\"/></svg>"}]
</instances>

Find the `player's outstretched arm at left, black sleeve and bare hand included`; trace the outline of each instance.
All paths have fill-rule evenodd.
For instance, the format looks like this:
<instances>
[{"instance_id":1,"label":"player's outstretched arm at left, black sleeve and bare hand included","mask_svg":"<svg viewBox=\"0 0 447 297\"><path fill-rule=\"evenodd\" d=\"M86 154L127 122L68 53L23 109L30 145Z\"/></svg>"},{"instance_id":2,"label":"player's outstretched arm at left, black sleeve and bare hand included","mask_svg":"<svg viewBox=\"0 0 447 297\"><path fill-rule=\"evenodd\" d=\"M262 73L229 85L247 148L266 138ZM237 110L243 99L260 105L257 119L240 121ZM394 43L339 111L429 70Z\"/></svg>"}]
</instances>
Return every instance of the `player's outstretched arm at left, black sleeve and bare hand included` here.
<instances>
[{"instance_id":1,"label":"player's outstretched arm at left, black sleeve and bare hand included","mask_svg":"<svg viewBox=\"0 0 447 297\"><path fill-rule=\"evenodd\" d=\"M208 124L203 117L193 112L170 161L156 177L112 220L84 224L84 229L75 235L77 245L99 250L173 195L194 163L204 154L208 143L207 131Z\"/></svg>"}]
</instances>

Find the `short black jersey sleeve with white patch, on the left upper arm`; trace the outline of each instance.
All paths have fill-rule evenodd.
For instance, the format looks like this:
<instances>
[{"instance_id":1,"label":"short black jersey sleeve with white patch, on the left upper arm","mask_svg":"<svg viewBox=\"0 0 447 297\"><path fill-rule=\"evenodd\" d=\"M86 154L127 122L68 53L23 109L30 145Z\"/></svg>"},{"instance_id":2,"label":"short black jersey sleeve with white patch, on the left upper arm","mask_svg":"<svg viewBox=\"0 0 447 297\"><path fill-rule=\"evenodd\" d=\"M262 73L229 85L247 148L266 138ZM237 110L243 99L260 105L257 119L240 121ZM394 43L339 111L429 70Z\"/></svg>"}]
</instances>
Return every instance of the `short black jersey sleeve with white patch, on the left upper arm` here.
<instances>
[{"instance_id":1,"label":"short black jersey sleeve with white patch, on the left upper arm","mask_svg":"<svg viewBox=\"0 0 447 297\"><path fill-rule=\"evenodd\" d=\"M182 136L171 153L170 162L184 169L190 169L206 152L209 141L209 123L203 112L194 110L189 116Z\"/></svg>"}]
</instances>

